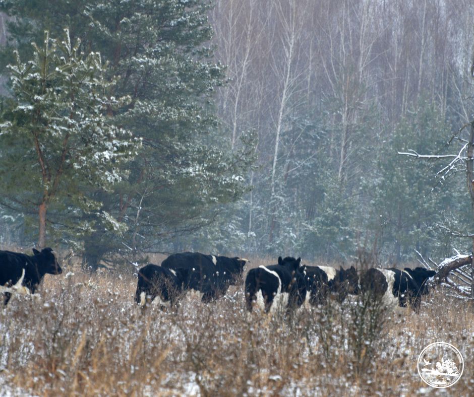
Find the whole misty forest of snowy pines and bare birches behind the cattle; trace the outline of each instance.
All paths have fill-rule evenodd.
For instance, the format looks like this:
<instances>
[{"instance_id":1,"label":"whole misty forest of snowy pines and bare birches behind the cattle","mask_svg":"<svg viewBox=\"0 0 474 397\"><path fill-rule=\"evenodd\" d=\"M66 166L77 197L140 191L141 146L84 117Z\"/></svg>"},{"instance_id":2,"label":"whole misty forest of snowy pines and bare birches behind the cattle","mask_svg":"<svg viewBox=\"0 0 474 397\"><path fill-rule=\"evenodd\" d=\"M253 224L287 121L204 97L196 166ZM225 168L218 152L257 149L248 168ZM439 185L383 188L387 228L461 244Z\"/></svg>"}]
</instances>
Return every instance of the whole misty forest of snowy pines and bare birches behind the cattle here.
<instances>
[{"instance_id":1,"label":"whole misty forest of snowy pines and bare birches behind the cattle","mask_svg":"<svg viewBox=\"0 0 474 397\"><path fill-rule=\"evenodd\" d=\"M465 168L399 152L461 150L472 2L0 6L0 244L60 245L93 269L471 249Z\"/></svg>"}]
</instances>

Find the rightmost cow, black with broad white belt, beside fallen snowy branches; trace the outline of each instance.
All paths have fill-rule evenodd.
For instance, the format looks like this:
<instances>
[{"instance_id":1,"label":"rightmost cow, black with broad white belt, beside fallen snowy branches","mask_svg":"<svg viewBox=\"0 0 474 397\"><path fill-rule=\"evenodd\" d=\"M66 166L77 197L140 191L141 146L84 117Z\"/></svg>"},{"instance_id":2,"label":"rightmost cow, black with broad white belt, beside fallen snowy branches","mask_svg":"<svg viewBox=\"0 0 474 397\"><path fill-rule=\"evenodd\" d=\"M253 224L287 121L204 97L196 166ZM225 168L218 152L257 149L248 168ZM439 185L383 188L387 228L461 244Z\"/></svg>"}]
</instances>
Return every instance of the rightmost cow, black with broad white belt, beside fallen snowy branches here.
<instances>
[{"instance_id":1,"label":"rightmost cow, black with broad white belt, beside fallen snowy branches","mask_svg":"<svg viewBox=\"0 0 474 397\"><path fill-rule=\"evenodd\" d=\"M429 293L428 279L436 274L433 270L415 268L404 270L372 268L361 276L361 291L373 294L388 306L420 307L421 296Z\"/></svg>"}]
</instances>

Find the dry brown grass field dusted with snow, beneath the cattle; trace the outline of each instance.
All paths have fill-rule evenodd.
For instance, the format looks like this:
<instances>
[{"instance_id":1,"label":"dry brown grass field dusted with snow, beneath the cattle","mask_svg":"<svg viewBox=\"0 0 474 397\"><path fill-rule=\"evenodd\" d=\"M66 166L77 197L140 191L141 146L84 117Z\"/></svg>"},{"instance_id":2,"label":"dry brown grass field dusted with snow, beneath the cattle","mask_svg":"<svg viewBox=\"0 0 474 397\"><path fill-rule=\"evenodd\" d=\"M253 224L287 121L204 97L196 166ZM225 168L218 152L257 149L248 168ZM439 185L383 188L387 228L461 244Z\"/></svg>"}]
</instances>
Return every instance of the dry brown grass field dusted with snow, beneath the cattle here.
<instances>
[{"instance_id":1,"label":"dry brown grass field dusted with snow, beneath the cattle","mask_svg":"<svg viewBox=\"0 0 474 397\"><path fill-rule=\"evenodd\" d=\"M245 311L242 286L207 305L188 294L167 312L142 312L135 288L133 275L65 264L39 299L12 298L0 309L0 395L473 395L474 306L443 290L419 314L351 299L269 317ZM465 362L444 391L417 372L436 341Z\"/></svg>"}]
</instances>

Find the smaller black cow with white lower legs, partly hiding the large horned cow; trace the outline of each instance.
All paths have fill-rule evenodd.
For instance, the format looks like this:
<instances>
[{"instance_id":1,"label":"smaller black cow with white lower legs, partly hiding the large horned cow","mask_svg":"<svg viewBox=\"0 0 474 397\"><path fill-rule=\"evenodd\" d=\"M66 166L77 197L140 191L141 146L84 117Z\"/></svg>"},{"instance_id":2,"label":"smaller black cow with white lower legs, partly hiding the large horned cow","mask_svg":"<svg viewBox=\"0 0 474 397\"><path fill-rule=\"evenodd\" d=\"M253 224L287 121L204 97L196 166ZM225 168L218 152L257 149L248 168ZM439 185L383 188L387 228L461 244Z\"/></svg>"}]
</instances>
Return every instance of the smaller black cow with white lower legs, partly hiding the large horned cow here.
<instances>
[{"instance_id":1,"label":"smaller black cow with white lower legs, partly hiding the large horned cow","mask_svg":"<svg viewBox=\"0 0 474 397\"><path fill-rule=\"evenodd\" d=\"M189 282L185 269L166 269L149 263L138 272L135 302L144 307L147 302L158 298L161 308L173 306Z\"/></svg>"}]
</instances>

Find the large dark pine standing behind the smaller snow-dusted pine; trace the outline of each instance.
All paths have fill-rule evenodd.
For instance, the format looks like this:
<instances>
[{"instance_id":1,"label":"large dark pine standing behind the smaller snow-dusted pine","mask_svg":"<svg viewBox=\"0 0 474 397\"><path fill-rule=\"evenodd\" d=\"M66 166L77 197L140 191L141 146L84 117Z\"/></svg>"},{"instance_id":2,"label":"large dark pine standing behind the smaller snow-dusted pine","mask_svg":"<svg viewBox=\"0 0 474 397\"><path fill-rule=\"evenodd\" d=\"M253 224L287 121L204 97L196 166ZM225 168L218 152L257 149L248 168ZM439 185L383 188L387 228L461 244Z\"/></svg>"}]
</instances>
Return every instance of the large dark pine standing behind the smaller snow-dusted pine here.
<instances>
[{"instance_id":1,"label":"large dark pine standing behind the smaller snow-dusted pine","mask_svg":"<svg viewBox=\"0 0 474 397\"><path fill-rule=\"evenodd\" d=\"M44 1L3 4L16 17L10 31L19 49L38 29L67 24L83 48L109 62L105 76L117 81L109 95L130 97L110 113L116 125L143 139L143 149L113 194L102 189L89 194L127 231L122 240L105 229L86 239L85 262L92 268L124 246L135 254L193 232L212 222L210 208L247 191L243 176L255 140L246 136L242 150L230 152L215 115L213 96L225 68L206 44L212 36L209 0L94 0L74 8L66 0L55 7Z\"/></svg>"}]
</instances>

